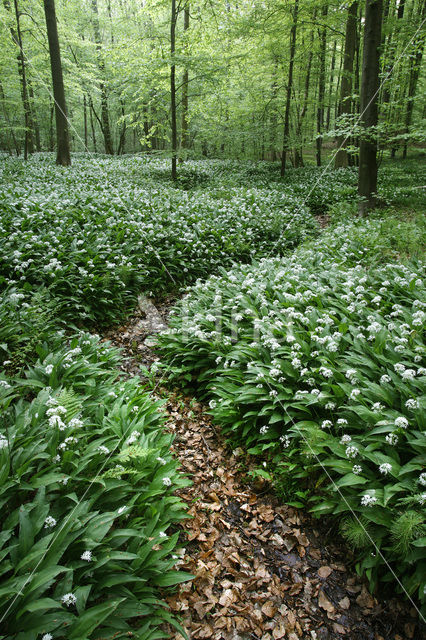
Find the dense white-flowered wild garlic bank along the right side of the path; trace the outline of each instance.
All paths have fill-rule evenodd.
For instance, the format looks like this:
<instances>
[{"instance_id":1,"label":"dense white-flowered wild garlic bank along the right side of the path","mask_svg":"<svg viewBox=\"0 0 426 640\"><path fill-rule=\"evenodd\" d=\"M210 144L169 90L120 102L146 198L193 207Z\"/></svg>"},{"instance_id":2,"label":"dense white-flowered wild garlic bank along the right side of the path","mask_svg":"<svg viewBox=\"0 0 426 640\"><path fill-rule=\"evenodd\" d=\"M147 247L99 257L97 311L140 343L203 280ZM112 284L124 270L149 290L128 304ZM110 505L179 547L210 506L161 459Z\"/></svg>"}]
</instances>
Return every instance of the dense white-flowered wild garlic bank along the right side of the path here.
<instances>
[{"instance_id":1,"label":"dense white-flowered wild garlic bank along the right side of the path","mask_svg":"<svg viewBox=\"0 0 426 640\"><path fill-rule=\"evenodd\" d=\"M387 262L395 227L340 223L199 282L159 345L283 498L343 522L372 587L397 575L424 602L425 271Z\"/></svg>"}]
</instances>

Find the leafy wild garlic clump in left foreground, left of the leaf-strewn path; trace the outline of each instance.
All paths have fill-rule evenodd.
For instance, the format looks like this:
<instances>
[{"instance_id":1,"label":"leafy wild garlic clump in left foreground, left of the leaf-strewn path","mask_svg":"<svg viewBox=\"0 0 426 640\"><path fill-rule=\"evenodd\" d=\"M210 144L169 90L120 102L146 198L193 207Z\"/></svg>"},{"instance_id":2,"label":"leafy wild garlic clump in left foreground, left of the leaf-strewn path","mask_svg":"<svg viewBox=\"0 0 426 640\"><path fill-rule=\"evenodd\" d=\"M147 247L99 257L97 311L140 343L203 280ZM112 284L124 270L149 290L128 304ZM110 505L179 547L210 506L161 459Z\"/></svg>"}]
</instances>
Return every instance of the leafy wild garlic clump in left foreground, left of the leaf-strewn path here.
<instances>
[{"instance_id":1,"label":"leafy wild garlic clump in left foreground, left of the leaf-strewn path","mask_svg":"<svg viewBox=\"0 0 426 640\"><path fill-rule=\"evenodd\" d=\"M0 380L0 618L5 639L163 637L187 481L159 403L90 334L39 346ZM132 454L129 454L132 451Z\"/></svg>"}]
</instances>

